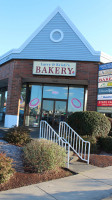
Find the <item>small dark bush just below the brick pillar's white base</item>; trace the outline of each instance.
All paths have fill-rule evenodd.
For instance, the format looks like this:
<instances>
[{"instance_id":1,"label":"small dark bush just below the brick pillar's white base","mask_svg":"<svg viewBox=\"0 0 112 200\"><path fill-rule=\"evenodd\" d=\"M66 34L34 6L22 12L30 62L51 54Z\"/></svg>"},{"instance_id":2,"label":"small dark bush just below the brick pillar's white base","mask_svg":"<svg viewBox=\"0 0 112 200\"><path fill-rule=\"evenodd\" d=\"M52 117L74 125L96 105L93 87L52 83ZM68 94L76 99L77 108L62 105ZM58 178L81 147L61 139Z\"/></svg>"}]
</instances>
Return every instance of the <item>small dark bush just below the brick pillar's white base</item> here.
<instances>
[{"instance_id":1,"label":"small dark bush just below the brick pillar's white base","mask_svg":"<svg viewBox=\"0 0 112 200\"><path fill-rule=\"evenodd\" d=\"M30 142L29 129L24 126L10 128L5 135L4 140L15 145L25 145Z\"/></svg>"}]
</instances>

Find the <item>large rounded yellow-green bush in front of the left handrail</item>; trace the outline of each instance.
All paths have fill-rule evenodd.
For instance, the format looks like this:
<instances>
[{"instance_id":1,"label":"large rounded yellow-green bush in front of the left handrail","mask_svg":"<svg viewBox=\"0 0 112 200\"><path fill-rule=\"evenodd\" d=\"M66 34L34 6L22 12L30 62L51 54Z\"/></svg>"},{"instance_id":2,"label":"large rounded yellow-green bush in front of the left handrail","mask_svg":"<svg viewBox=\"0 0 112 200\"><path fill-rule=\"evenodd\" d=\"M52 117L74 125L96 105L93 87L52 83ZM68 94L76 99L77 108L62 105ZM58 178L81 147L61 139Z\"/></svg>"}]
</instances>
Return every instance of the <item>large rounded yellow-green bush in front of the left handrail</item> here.
<instances>
[{"instance_id":1,"label":"large rounded yellow-green bush in front of the left handrail","mask_svg":"<svg viewBox=\"0 0 112 200\"><path fill-rule=\"evenodd\" d=\"M30 172L44 172L64 167L65 149L45 139L35 139L23 148L24 166Z\"/></svg>"}]
</instances>

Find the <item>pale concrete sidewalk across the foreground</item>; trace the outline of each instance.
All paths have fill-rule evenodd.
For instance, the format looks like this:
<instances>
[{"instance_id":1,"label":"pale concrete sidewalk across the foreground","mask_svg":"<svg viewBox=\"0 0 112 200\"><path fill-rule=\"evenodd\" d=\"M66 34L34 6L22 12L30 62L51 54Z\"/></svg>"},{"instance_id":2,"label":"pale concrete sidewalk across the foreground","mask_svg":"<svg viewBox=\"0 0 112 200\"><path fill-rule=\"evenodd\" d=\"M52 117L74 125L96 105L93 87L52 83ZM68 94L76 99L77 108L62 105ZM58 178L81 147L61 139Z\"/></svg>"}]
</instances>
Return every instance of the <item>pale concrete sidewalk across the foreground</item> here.
<instances>
[{"instance_id":1,"label":"pale concrete sidewalk across the foreground","mask_svg":"<svg viewBox=\"0 0 112 200\"><path fill-rule=\"evenodd\" d=\"M106 199L105 199L106 198ZM112 166L0 192L0 200L112 200Z\"/></svg>"}]
</instances>

